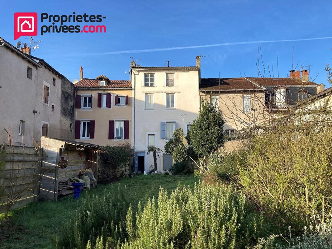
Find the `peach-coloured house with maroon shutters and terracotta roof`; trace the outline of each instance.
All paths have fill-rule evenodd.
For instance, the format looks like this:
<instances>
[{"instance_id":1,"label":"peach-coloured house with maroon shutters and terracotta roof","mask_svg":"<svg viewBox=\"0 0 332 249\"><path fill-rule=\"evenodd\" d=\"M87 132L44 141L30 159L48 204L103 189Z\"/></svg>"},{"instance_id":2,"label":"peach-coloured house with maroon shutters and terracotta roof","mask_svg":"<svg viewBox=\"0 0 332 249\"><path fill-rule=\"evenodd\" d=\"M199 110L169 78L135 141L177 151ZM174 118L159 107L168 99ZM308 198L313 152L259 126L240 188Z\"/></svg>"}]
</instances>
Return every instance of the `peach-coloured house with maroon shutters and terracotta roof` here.
<instances>
[{"instance_id":1,"label":"peach-coloured house with maroon shutters and terracotta roof","mask_svg":"<svg viewBox=\"0 0 332 249\"><path fill-rule=\"evenodd\" d=\"M132 88L130 80L83 77L75 83L75 141L98 145L131 142Z\"/></svg>"}]
</instances>

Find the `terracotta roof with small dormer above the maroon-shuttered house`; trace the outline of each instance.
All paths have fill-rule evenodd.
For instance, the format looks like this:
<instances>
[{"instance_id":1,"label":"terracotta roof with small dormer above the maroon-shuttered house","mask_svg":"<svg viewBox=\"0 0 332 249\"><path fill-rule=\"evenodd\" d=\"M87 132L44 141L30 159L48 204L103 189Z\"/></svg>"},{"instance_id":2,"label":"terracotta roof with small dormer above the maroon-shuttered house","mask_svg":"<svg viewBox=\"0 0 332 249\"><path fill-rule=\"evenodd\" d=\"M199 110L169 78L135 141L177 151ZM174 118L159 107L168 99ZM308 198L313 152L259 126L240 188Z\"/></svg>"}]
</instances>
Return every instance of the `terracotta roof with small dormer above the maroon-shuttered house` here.
<instances>
[{"instance_id":1,"label":"terracotta roof with small dormer above the maroon-shuttered house","mask_svg":"<svg viewBox=\"0 0 332 249\"><path fill-rule=\"evenodd\" d=\"M131 89L130 80L110 80L110 84L106 86L100 86L99 80L97 79L87 79L83 78L79 82L75 84L75 88L101 88L101 89L109 89L109 88L127 88Z\"/></svg>"}]
</instances>

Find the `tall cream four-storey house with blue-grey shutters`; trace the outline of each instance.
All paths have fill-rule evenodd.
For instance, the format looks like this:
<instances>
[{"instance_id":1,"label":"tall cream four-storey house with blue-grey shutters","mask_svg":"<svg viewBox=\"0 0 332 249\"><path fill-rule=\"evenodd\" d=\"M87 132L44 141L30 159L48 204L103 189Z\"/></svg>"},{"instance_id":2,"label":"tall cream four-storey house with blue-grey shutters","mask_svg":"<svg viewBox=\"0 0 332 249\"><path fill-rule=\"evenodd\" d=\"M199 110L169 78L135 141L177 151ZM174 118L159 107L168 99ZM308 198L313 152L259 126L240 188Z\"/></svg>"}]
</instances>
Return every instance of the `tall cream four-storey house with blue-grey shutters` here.
<instances>
[{"instance_id":1,"label":"tall cream four-storey house with blue-grey shutters","mask_svg":"<svg viewBox=\"0 0 332 249\"><path fill-rule=\"evenodd\" d=\"M131 62L131 83L134 90L132 112L132 144L135 149L135 172L154 168L149 146L164 150L177 128L184 133L197 118L200 108L199 79L201 57L196 66L140 66ZM161 153L157 169L168 170L172 155Z\"/></svg>"}]
</instances>

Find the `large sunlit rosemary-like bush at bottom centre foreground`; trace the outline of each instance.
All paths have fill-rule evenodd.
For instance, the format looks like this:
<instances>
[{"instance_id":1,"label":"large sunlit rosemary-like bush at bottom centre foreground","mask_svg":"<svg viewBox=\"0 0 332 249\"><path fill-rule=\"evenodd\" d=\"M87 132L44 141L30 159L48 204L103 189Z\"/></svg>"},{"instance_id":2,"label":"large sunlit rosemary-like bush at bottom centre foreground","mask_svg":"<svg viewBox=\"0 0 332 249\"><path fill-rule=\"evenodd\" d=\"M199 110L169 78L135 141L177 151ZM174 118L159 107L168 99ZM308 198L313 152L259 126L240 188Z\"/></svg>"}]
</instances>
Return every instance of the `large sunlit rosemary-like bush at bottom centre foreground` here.
<instances>
[{"instance_id":1,"label":"large sunlit rosemary-like bush at bottom centre foreground","mask_svg":"<svg viewBox=\"0 0 332 249\"><path fill-rule=\"evenodd\" d=\"M221 184L178 187L170 197L161 189L157 201L137 210L133 215L129 207L127 239L119 249L245 248L254 244L262 221L243 194Z\"/></svg>"}]
</instances>

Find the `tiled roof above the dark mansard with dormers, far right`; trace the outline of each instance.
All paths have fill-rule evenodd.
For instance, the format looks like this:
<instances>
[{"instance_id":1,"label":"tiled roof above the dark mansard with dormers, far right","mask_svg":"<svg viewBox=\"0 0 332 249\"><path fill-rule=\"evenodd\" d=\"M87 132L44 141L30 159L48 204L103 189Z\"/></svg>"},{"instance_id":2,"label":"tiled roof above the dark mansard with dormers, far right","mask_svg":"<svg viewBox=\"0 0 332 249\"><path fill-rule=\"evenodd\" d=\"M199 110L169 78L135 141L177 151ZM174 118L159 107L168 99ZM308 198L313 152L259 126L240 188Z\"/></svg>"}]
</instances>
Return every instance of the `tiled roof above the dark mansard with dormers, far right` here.
<instances>
[{"instance_id":1,"label":"tiled roof above the dark mansard with dormers, far right","mask_svg":"<svg viewBox=\"0 0 332 249\"><path fill-rule=\"evenodd\" d=\"M255 78L247 77L261 86L317 86L315 82L302 82L292 78Z\"/></svg>"}]
</instances>

